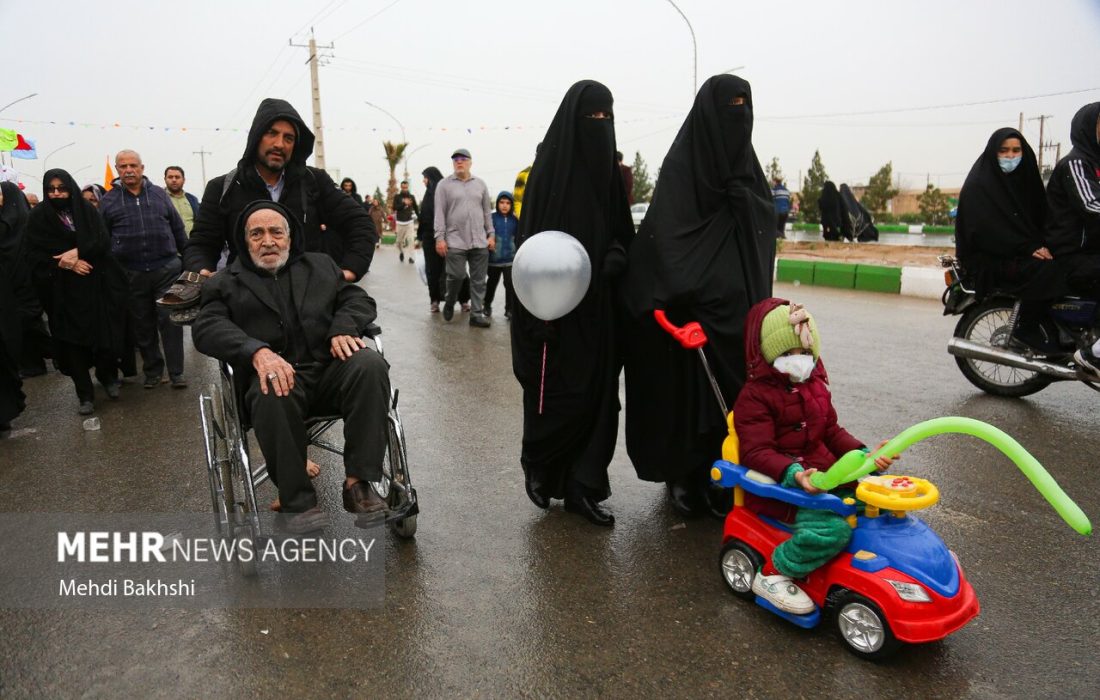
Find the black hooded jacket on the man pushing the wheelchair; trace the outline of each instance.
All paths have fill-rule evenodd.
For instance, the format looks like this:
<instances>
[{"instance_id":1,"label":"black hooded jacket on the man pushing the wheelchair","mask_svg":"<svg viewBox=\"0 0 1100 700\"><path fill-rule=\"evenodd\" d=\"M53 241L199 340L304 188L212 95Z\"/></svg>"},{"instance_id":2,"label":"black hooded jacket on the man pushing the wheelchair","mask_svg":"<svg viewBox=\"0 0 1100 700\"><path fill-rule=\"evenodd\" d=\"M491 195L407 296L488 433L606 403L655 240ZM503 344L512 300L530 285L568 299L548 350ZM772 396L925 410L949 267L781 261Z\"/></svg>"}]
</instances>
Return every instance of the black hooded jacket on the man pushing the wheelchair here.
<instances>
[{"instance_id":1,"label":"black hooded jacket on the man pushing the wheelchair","mask_svg":"<svg viewBox=\"0 0 1100 700\"><path fill-rule=\"evenodd\" d=\"M295 125L298 139L283 169L285 181L279 204L297 221L306 251L327 253L340 269L350 270L359 280L366 274L374 256L374 244L378 240L374 223L366 210L337 187L328 173L306 165L306 158L314 152L314 133L289 102L272 98L260 103L237 168L207 183L199 215L184 250L184 269L215 270L227 242L230 260L237 258L233 226L239 215L256 199L271 199L256 171L256 150L267 128L280 119ZM227 178L230 182L227 183Z\"/></svg>"}]
</instances>

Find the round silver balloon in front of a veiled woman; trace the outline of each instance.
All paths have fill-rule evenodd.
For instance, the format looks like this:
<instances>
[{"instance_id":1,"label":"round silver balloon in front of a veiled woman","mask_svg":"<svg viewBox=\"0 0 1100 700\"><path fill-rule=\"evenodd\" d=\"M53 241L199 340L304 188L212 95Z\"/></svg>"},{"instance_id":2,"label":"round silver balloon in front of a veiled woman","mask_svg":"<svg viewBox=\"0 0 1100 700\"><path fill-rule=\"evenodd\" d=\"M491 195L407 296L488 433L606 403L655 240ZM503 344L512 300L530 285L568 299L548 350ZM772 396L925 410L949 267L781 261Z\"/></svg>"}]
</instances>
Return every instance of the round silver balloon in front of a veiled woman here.
<instances>
[{"instance_id":1,"label":"round silver balloon in front of a veiled woman","mask_svg":"<svg viewBox=\"0 0 1100 700\"><path fill-rule=\"evenodd\" d=\"M530 237L512 263L516 296L542 320L561 318L576 308L591 282L588 252L562 231L541 231Z\"/></svg>"}]
</instances>

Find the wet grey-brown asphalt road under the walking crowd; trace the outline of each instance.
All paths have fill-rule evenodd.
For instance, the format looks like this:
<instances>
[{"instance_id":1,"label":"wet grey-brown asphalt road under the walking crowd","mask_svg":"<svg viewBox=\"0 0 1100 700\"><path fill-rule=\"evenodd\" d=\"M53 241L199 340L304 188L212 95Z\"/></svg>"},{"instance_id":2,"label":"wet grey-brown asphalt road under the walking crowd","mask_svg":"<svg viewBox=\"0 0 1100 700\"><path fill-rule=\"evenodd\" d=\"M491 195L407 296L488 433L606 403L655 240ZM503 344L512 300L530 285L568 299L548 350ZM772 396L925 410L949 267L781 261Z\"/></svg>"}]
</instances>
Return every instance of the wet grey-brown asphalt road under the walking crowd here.
<instances>
[{"instance_id":1,"label":"wet grey-brown asphalt road under the walking crowd","mask_svg":"<svg viewBox=\"0 0 1100 700\"><path fill-rule=\"evenodd\" d=\"M826 628L796 628L728 593L721 524L673 514L661 485L635 478L622 441L613 529L560 504L534 507L507 325L429 315L413 265L388 249L366 286L421 499L415 542L384 538L384 608L3 610L0 697L1100 696L1100 546L985 444L934 438L894 470L939 486L941 504L922 517L958 554L981 615L942 643L869 664ZM943 415L993 423L1100 518L1100 396L1070 385L1024 401L982 395L947 356L954 319L936 303L777 294L820 320L835 403L856 436L871 442ZM128 384L121 401L101 397L99 433L81 429L65 378L28 382L30 408L0 444L0 512L207 511L196 397L216 368L191 349L187 361L186 391ZM338 463L315 459L336 507ZM261 499L272 495L265 485Z\"/></svg>"}]
</instances>

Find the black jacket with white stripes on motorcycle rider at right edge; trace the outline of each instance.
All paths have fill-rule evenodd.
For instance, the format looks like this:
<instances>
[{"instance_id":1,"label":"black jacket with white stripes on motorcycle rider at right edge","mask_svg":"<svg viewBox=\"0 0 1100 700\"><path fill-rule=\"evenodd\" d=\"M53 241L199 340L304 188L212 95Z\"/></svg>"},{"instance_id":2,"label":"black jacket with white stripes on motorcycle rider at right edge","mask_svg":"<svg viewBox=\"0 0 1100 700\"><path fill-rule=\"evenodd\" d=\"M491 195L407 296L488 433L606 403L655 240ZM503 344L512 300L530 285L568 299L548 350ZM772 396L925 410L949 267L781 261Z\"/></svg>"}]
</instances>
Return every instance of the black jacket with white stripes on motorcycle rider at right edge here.
<instances>
[{"instance_id":1,"label":"black jacket with white stripes on motorcycle rider at right edge","mask_svg":"<svg viewBox=\"0 0 1100 700\"><path fill-rule=\"evenodd\" d=\"M1057 259L1076 252L1100 253L1100 102L1077 110L1069 128L1074 144L1058 161L1046 186L1047 248Z\"/></svg>"}]
</instances>

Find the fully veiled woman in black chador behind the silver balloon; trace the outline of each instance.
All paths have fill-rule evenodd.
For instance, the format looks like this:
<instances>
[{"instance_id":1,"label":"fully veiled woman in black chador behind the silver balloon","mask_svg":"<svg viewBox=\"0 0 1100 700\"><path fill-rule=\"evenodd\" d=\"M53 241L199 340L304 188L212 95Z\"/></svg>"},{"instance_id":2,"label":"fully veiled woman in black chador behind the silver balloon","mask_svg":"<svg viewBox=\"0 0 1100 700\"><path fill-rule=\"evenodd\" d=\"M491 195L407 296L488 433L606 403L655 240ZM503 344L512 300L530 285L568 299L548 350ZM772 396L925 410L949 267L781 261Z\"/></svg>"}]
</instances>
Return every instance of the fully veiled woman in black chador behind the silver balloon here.
<instances>
[{"instance_id":1,"label":"fully veiled woman in black chador behind the silver balloon","mask_svg":"<svg viewBox=\"0 0 1100 700\"><path fill-rule=\"evenodd\" d=\"M634 236L615 160L612 102L610 91L593 80L565 92L535 157L519 221L520 249L549 230L580 241L592 262L588 291L557 320L536 318L518 299L512 318L512 364L524 387L527 494L542 508L563 497L565 510L597 525L615 522L600 502L610 495L607 464L618 435L623 367L618 281Z\"/></svg>"}]
</instances>

